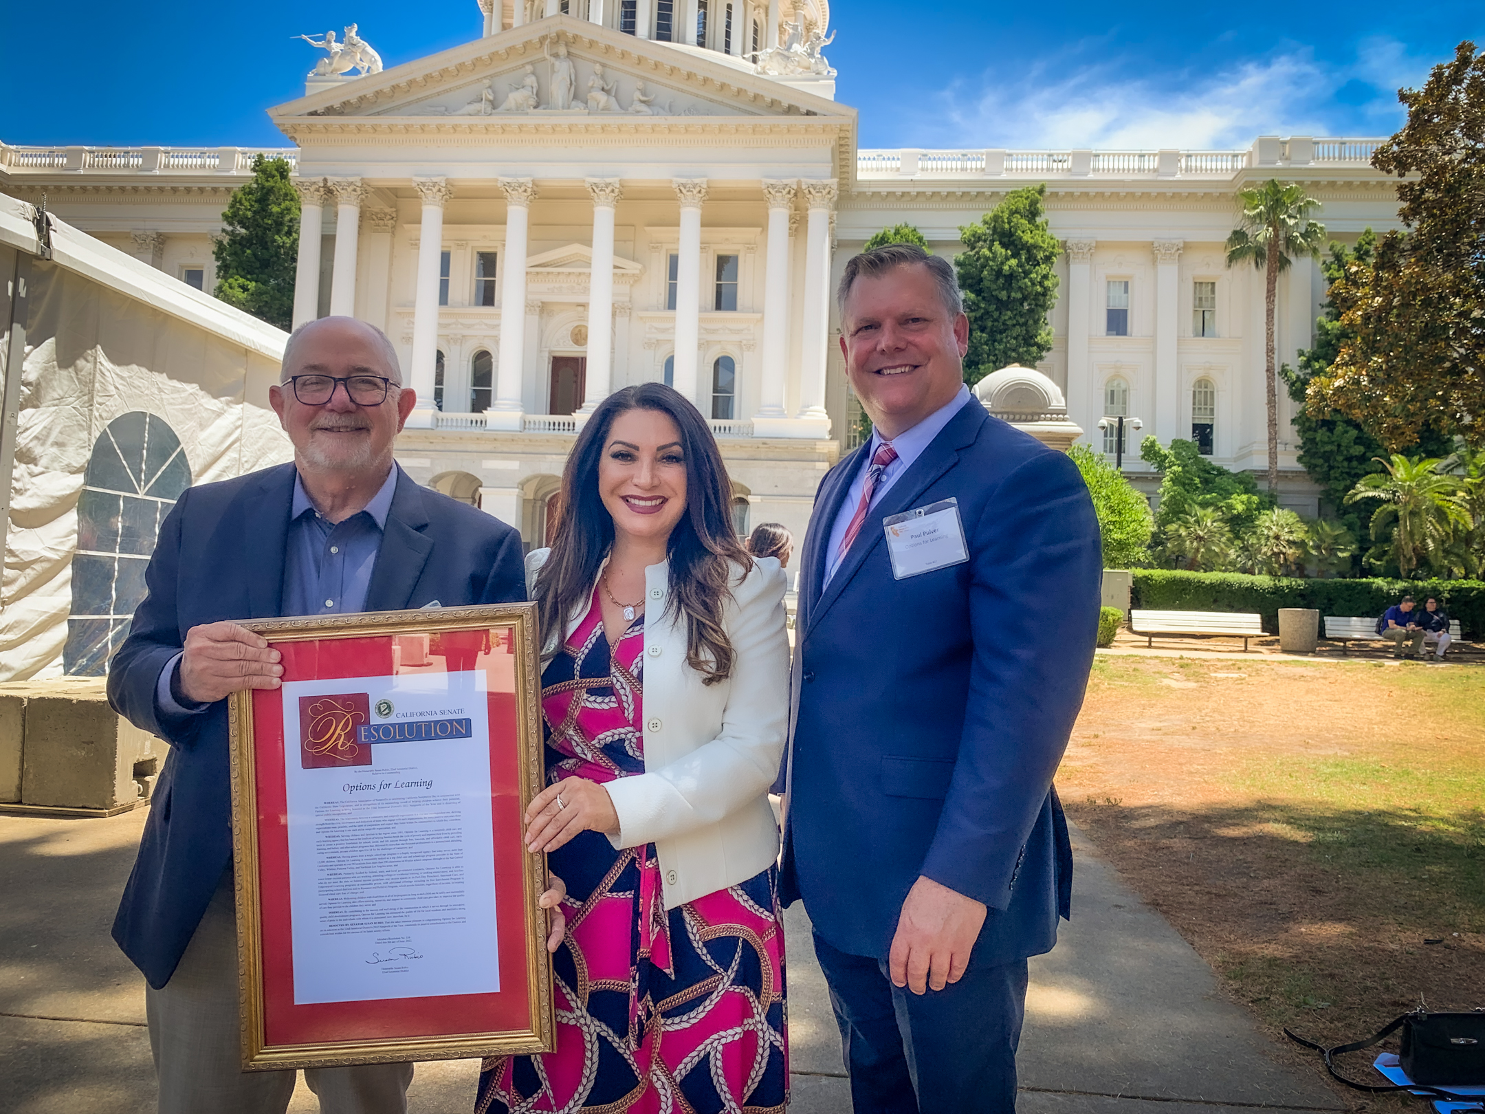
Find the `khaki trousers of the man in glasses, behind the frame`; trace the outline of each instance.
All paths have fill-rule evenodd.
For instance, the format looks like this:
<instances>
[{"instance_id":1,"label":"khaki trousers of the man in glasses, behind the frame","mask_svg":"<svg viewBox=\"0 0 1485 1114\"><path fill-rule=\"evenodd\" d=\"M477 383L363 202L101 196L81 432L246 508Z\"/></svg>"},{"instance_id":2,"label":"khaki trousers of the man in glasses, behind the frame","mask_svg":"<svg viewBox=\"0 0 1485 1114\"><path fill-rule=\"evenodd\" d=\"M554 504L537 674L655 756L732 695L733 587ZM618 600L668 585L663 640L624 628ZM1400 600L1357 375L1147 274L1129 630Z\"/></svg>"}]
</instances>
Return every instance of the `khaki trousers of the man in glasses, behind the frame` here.
<instances>
[{"instance_id":1,"label":"khaki trousers of the man in glasses, behind the frame","mask_svg":"<svg viewBox=\"0 0 1485 1114\"><path fill-rule=\"evenodd\" d=\"M242 1071L238 922L232 872L200 918L175 974L144 989L160 1114L284 1114L293 1071ZM304 1081L322 1114L407 1114L411 1063L313 1068Z\"/></svg>"}]
</instances>

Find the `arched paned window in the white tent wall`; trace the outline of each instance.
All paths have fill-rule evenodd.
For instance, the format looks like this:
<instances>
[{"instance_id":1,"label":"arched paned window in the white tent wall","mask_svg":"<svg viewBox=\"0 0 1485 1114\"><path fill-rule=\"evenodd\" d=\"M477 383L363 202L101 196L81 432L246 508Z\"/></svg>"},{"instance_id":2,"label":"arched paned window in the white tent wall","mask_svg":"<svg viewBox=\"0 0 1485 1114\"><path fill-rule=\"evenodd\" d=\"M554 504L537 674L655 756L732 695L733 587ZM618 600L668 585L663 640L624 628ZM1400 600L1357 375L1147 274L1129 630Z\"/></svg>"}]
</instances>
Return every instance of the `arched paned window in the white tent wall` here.
<instances>
[{"instance_id":1,"label":"arched paned window in the white tent wall","mask_svg":"<svg viewBox=\"0 0 1485 1114\"><path fill-rule=\"evenodd\" d=\"M190 480L175 431L154 414L122 414L94 441L77 499L73 606L62 648L68 676L102 676L128 636L160 523Z\"/></svg>"}]
</instances>

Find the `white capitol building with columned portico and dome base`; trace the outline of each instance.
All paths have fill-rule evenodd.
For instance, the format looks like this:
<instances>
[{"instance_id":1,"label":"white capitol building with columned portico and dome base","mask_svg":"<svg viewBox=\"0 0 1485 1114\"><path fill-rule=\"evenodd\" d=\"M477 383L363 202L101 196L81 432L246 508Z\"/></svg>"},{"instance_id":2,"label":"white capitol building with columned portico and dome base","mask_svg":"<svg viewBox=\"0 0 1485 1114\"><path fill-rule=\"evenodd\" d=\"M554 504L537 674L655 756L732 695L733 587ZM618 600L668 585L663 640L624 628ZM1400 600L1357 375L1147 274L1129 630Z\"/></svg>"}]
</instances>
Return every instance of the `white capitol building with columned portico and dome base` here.
<instances>
[{"instance_id":1,"label":"white capitol building with columned portico and dome base","mask_svg":"<svg viewBox=\"0 0 1485 1114\"><path fill-rule=\"evenodd\" d=\"M293 146L263 152L290 160L303 201L294 324L386 330L419 398L408 474L541 545L585 414L664 380L711 419L738 527L802 533L858 437L833 304L845 260L897 223L952 257L959 226L1037 183L1065 248L1056 343L986 405L1111 456L1099 419L1138 417L1124 466L1151 492L1145 434L1262 471L1264 284L1225 266L1234 195L1279 177L1320 199L1334 239L1399 227L1377 140L863 150L829 28L827 0L480 0L468 43L392 68L365 39L394 28L316 43L303 95L270 110ZM73 229L209 293L211 238L257 153L0 144L0 193L45 195ZM1311 343L1323 294L1311 260L1282 276L1280 361ZM1316 514L1280 398L1282 502Z\"/></svg>"}]
</instances>

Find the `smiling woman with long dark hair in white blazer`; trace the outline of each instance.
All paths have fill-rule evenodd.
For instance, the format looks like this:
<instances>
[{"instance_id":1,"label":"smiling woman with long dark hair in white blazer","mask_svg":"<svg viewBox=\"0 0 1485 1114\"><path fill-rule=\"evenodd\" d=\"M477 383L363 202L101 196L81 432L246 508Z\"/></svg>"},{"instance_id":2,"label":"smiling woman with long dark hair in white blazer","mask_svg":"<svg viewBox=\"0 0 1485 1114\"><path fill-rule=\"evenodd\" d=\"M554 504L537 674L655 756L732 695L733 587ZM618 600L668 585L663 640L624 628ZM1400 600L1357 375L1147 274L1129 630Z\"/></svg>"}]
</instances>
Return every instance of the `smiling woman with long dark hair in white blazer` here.
<instances>
[{"instance_id":1,"label":"smiling woman with long dark hair in white blazer","mask_svg":"<svg viewBox=\"0 0 1485 1114\"><path fill-rule=\"evenodd\" d=\"M738 542L711 429L661 383L598 405L561 496L527 558L548 787L526 839L567 884L557 1047L486 1061L477 1111L783 1111L784 573Z\"/></svg>"}]
</instances>

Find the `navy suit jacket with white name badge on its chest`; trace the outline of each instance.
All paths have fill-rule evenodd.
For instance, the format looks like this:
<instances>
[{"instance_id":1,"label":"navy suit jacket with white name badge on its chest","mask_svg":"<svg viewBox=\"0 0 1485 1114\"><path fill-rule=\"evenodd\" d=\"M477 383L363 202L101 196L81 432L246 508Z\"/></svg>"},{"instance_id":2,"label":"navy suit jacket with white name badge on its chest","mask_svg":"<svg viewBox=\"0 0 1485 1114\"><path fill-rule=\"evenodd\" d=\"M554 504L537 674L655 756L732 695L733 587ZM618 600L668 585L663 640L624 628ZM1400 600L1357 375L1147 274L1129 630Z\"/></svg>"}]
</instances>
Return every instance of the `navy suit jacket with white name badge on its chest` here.
<instances>
[{"instance_id":1,"label":"navy suit jacket with white name badge on its chest","mask_svg":"<svg viewBox=\"0 0 1485 1114\"><path fill-rule=\"evenodd\" d=\"M867 515L821 588L866 446L821 481L800 564L781 896L887 958L919 875L989 906L973 954L1050 951L1072 851L1051 789L1097 636L1083 477L970 401ZM958 499L970 560L897 581L882 518Z\"/></svg>"}]
</instances>

